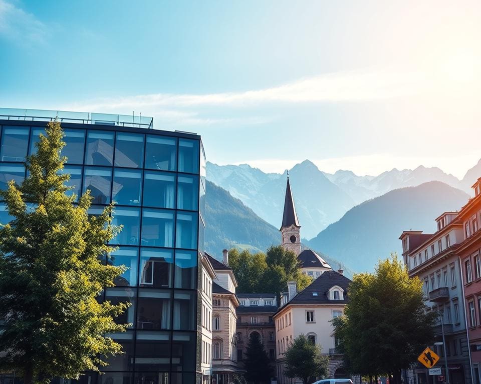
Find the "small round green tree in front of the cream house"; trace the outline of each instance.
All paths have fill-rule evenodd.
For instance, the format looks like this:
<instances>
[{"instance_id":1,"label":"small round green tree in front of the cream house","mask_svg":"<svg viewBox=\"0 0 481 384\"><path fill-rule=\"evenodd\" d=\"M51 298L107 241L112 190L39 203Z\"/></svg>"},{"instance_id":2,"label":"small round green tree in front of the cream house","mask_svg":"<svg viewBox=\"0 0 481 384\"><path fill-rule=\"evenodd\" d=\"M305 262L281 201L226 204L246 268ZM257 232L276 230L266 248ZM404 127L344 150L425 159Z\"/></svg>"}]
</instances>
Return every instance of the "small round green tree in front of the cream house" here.
<instances>
[{"instance_id":1,"label":"small round green tree in front of the cream house","mask_svg":"<svg viewBox=\"0 0 481 384\"><path fill-rule=\"evenodd\" d=\"M329 356L322 354L320 345L311 342L304 334L296 337L286 349L284 374L299 378L304 384L328 373Z\"/></svg>"}]
</instances>

